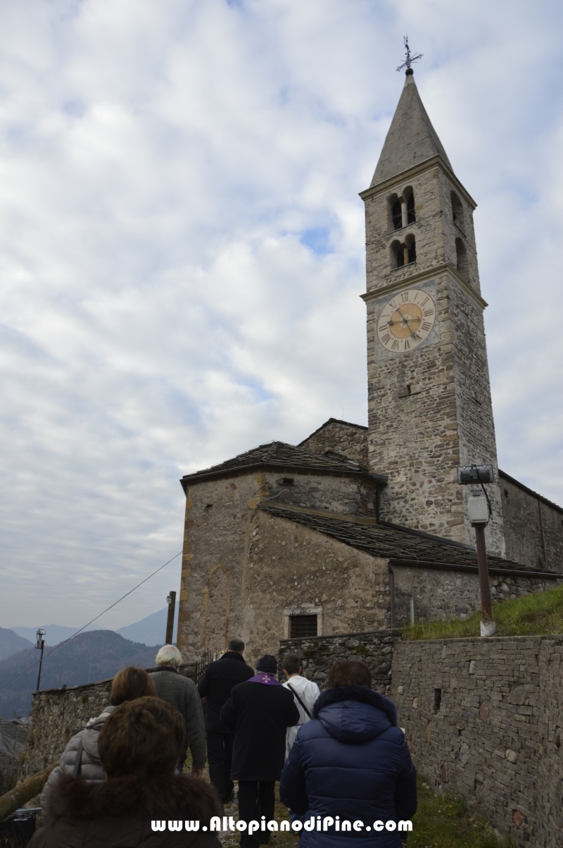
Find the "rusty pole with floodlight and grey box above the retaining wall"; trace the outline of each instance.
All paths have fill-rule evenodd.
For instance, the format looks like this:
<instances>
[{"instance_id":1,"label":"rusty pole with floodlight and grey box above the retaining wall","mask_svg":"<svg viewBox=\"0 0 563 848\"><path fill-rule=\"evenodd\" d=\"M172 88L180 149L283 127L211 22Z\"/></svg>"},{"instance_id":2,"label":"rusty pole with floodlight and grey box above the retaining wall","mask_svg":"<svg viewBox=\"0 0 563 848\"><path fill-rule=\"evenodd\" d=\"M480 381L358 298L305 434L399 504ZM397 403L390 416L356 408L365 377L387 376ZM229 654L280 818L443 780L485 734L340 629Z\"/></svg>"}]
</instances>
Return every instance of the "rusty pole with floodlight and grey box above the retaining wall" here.
<instances>
[{"instance_id":1,"label":"rusty pole with floodlight and grey box above the retaining wall","mask_svg":"<svg viewBox=\"0 0 563 848\"><path fill-rule=\"evenodd\" d=\"M493 473L493 466L462 466L457 469L458 483L463 486L478 483L481 486L481 488L474 489L469 495L467 513L475 530L479 590L481 593L482 636L493 636L496 630L491 606L491 589L488 583L487 545L485 544L485 527L487 527L491 516L491 505L483 485L483 483L493 483Z\"/></svg>"}]
</instances>

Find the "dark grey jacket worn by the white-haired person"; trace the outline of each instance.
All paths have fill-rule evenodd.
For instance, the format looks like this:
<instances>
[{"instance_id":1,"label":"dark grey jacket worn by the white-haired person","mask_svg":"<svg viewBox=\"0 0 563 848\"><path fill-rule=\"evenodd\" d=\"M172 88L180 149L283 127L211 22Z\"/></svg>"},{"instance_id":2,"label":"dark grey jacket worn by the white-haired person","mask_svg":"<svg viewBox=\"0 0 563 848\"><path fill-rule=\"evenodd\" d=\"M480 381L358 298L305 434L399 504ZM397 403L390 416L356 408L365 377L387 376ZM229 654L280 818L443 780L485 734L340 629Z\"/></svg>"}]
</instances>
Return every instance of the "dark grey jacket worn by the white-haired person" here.
<instances>
[{"instance_id":1,"label":"dark grey jacket worn by the white-haired person","mask_svg":"<svg viewBox=\"0 0 563 848\"><path fill-rule=\"evenodd\" d=\"M162 666L157 672L151 672L152 682L157 689L157 696L167 700L184 717L185 742L179 754L179 761L185 760L188 745L191 751L192 766L205 766L205 728L203 727L203 710L196 683L185 678L172 666Z\"/></svg>"}]
</instances>

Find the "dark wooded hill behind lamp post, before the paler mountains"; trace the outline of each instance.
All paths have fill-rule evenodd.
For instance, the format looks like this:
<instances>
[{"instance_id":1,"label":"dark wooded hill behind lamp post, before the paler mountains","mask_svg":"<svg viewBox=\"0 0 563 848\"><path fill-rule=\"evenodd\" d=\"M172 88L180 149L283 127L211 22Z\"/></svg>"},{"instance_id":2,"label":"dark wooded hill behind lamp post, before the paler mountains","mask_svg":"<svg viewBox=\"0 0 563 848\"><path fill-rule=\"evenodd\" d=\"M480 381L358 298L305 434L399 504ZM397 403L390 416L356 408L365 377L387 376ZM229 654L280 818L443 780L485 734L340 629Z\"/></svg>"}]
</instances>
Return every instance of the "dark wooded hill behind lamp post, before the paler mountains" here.
<instances>
[{"instance_id":1,"label":"dark wooded hill behind lamp post, before the paler mountains","mask_svg":"<svg viewBox=\"0 0 563 848\"><path fill-rule=\"evenodd\" d=\"M64 683L67 686L80 686L89 681L113 678L125 666L153 668L154 655L154 647L147 648L146 644L131 642L113 630L79 633L51 656L46 648L41 669L41 689L57 689ZM0 661L0 715L9 718L15 712L16 715L25 716L30 711L31 693L35 691L37 683L37 665L5 689L2 687L38 660L39 651L26 648Z\"/></svg>"}]
</instances>

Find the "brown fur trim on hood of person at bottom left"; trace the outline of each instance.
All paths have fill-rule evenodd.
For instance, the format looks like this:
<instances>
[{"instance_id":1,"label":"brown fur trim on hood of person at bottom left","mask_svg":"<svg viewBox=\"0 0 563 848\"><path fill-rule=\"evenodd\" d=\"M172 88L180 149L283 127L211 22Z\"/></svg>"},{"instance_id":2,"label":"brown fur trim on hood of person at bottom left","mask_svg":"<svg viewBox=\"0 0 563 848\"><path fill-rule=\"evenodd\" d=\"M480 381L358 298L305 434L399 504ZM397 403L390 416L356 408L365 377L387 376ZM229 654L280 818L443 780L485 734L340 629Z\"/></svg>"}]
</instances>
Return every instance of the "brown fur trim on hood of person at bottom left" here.
<instances>
[{"instance_id":1,"label":"brown fur trim on hood of person at bottom left","mask_svg":"<svg viewBox=\"0 0 563 848\"><path fill-rule=\"evenodd\" d=\"M99 782L64 775L52 789L49 819L130 817L199 819L221 815L211 784L190 774L166 778L133 775Z\"/></svg>"}]
</instances>

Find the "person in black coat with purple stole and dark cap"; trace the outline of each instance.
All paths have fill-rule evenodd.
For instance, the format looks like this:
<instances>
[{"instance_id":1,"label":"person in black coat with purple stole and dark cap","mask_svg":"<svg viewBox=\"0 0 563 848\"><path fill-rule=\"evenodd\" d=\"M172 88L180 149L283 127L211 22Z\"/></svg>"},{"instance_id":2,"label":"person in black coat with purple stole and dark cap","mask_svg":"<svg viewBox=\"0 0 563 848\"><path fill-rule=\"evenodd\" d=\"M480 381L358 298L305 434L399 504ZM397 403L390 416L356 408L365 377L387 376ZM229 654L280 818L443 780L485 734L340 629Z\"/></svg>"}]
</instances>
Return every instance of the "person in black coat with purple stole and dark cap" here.
<instances>
[{"instance_id":1,"label":"person in black coat with purple stole and dark cap","mask_svg":"<svg viewBox=\"0 0 563 848\"><path fill-rule=\"evenodd\" d=\"M221 721L235 733L231 777L239 781L239 818L273 818L274 788L284 767L287 728L299 722L293 695L274 677L278 663L265 654L256 677L235 686L221 710ZM240 834L242 848L268 842L269 831Z\"/></svg>"}]
</instances>

